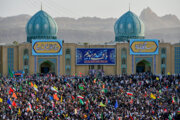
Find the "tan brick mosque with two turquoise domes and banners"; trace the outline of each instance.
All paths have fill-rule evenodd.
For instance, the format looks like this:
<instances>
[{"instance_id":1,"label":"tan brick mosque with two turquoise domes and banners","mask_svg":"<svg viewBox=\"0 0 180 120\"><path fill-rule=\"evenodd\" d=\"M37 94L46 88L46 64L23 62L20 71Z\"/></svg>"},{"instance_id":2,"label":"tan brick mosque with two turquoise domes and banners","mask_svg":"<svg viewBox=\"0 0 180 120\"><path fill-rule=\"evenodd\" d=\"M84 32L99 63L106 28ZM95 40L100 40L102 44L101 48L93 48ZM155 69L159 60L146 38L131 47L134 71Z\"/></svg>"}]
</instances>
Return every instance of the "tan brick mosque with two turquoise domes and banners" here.
<instances>
[{"instance_id":1,"label":"tan brick mosque with two turquoise domes and banners","mask_svg":"<svg viewBox=\"0 0 180 120\"><path fill-rule=\"evenodd\" d=\"M25 74L106 75L180 73L180 44L146 39L144 24L130 10L114 25L114 42L102 45L66 43L57 38L55 20L40 10L26 25L27 42L0 45L0 73L24 71Z\"/></svg>"}]
</instances>

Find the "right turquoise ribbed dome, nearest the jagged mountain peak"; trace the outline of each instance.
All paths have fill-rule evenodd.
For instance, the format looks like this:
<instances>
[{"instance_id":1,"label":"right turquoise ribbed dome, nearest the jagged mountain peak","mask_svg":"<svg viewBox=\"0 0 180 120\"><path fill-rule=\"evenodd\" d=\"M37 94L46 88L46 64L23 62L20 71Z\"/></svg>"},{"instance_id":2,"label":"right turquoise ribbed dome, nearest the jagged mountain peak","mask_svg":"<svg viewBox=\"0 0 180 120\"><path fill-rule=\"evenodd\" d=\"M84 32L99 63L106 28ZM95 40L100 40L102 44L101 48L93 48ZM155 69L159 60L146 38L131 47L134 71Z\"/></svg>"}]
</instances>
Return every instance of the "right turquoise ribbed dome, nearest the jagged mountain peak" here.
<instances>
[{"instance_id":1,"label":"right turquoise ribbed dome, nearest the jagged mountain peak","mask_svg":"<svg viewBox=\"0 0 180 120\"><path fill-rule=\"evenodd\" d=\"M144 24L137 15L128 11L116 21L114 32L116 42L144 39Z\"/></svg>"}]
</instances>

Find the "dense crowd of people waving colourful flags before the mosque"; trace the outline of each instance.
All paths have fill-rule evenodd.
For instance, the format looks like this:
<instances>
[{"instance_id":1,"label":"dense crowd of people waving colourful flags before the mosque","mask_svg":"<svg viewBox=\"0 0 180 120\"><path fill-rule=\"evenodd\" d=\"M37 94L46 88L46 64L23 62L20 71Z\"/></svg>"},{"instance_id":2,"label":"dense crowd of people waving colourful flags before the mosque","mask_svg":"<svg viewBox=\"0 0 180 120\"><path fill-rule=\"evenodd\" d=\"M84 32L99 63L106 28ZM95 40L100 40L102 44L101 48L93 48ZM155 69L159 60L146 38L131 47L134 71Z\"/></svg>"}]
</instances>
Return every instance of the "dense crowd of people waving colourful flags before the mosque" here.
<instances>
[{"instance_id":1,"label":"dense crowd of people waving colourful flags before the mosque","mask_svg":"<svg viewBox=\"0 0 180 120\"><path fill-rule=\"evenodd\" d=\"M4 120L178 120L180 76L0 78Z\"/></svg>"}]
</instances>

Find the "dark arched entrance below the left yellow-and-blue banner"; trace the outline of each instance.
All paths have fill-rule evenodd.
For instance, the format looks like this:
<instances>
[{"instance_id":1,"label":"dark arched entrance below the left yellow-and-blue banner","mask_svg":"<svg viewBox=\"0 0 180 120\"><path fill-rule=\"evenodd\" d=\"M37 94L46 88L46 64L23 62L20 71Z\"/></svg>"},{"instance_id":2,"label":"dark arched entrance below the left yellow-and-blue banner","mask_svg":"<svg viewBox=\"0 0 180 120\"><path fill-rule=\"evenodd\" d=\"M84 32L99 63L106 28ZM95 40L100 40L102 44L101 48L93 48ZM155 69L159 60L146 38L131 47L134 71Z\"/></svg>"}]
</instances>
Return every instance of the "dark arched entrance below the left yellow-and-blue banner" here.
<instances>
[{"instance_id":1,"label":"dark arched entrance below the left yellow-and-blue banner","mask_svg":"<svg viewBox=\"0 0 180 120\"><path fill-rule=\"evenodd\" d=\"M55 73L55 66L52 62L50 61L44 61L40 65L40 72L41 73Z\"/></svg>"}]
</instances>

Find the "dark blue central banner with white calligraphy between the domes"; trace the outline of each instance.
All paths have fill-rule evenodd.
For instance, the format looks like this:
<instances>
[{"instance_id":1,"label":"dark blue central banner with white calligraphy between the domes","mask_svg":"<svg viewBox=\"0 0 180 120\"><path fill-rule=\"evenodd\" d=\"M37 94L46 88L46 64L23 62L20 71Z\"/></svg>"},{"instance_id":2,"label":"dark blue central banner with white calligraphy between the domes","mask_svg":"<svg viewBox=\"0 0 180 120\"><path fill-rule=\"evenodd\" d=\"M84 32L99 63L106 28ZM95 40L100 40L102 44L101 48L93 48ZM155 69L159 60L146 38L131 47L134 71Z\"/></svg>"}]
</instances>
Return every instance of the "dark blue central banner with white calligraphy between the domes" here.
<instances>
[{"instance_id":1,"label":"dark blue central banner with white calligraphy between the domes","mask_svg":"<svg viewBox=\"0 0 180 120\"><path fill-rule=\"evenodd\" d=\"M115 48L77 48L76 49L77 65L115 65L116 50Z\"/></svg>"}]
</instances>

